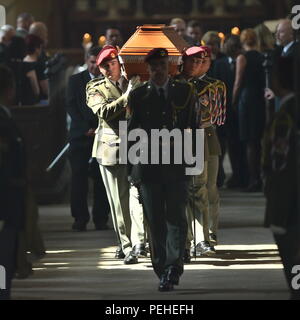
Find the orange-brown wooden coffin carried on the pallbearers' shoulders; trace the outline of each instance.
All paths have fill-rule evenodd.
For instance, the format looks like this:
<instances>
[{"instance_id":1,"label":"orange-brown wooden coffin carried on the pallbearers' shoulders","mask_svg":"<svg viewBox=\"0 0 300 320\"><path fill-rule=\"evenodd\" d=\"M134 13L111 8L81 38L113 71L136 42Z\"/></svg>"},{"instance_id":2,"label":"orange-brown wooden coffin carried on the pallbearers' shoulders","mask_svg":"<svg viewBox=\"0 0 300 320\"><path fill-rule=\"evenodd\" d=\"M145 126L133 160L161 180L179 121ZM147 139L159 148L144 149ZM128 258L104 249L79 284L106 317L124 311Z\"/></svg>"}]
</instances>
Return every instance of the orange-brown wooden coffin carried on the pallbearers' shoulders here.
<instances>
[{"instance_id":1,"label":"orange-brown wooden coffin carried on the pallbearers' shoulders","mask_svg":"<svg viewBox=\"0 0 300 320\"><path fill-rule=\"evenodd\" d=\"M129 38L120 50L128 78L139 75L142 81L149 79L147 64L144 62L147 53L153 48L165 48L169 53L169 72L175 75L181 60L183 49L188 44L181 38L173 27L164 24L143 25Z\"/></svg>"}]
</instances>

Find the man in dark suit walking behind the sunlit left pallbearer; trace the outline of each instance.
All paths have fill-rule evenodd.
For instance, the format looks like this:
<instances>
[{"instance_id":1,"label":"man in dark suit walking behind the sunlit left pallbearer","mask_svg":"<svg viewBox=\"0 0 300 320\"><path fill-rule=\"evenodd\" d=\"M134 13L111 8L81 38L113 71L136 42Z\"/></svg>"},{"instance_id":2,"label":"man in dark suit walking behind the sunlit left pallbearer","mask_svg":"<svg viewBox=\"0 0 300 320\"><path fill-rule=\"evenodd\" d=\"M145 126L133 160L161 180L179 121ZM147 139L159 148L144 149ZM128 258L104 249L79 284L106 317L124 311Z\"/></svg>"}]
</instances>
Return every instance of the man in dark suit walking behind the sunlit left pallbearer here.
<instances>
[{"instance_id":1,"label":"man in dark suit walking behind the sunlit left pallbearer","mask_svg":"<svg viewBox=\"0 0 300 320\"><path fill-rule=\"evenodd\" d=\"M75 231L86 230L90 219L88 209L88 177L94 185L93 222L97 230L107 229L109 204L97 161L92 159L92 147L98 118L86 105L86 85L100 76L96 57L101 48L91 48L87 53L88 69L71 76L67 91L67 112L71 117L70 163L72 168L71 212Z\"/></svg>"}]
</instances>

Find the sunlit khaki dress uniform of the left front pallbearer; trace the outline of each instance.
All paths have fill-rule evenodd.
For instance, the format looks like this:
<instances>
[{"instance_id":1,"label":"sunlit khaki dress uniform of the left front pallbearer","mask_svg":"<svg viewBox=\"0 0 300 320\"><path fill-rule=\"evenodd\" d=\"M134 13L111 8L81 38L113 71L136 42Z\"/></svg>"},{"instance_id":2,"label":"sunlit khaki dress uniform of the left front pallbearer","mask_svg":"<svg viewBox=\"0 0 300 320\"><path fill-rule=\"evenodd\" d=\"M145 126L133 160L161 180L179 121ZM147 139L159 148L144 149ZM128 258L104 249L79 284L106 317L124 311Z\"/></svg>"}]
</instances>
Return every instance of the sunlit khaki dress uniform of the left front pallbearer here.
<instances>
[{"instance_id":1,"label":"sunlit khaki dress uniform of the left front pallbearer","mask_svg":"<svg viewBox=\"0 0 300 320\"><path fill-rule=\"evenodd\" d=\"M127 86L123 78L120 87ZM131 217L129 209L129 182L127 166L120 164L121 133L119 121L126 121L127 96L109 79L93 79L87 84L87 105L99 117L92 157L97 158L106 188L112 220L119 244L125 255L132 251ZM136 198L136 191L132 191ZM135 201L135 208L140 217L141 206ZM138 221L138 222L137 222ZM132 232L138 243L144 241L143 220L136 218L137 225Z\"/></svg>"}]
</instances>

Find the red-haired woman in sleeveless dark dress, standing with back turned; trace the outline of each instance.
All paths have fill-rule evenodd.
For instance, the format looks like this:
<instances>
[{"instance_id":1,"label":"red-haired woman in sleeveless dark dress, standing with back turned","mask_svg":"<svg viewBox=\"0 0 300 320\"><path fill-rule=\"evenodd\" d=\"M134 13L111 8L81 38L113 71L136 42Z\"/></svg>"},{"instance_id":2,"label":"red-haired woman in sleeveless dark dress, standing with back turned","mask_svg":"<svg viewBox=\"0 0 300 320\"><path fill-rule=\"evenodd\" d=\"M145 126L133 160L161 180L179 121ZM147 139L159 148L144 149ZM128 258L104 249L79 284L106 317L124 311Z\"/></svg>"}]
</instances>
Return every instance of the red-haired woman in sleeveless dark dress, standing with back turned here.
<instances>
[{"instance_id":1,"label":"red-haired woman in sleeveless dark dress, standing with back turned","mask_svg":"<svg viewBox=\"0 0 300 320\"><path fill-rule=\"evenodd\" d=\"M245 149L248 169L246 191L261 191L260 154L261 138L265 126L265 80L263 56L253 29L241 33L244 53L236 60L236 78L233 104L238 106L239 137Z\"/></svg>"}]
</instances>

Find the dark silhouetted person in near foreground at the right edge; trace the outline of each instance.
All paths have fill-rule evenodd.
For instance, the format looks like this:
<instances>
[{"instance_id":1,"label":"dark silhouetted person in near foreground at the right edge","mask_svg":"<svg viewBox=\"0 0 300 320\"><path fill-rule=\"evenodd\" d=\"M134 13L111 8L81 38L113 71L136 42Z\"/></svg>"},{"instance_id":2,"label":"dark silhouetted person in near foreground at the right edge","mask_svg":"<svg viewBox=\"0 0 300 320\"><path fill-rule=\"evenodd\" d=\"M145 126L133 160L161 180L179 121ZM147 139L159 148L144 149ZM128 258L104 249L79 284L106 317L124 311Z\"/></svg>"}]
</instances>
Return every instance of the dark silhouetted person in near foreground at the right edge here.
<instances>
[{"instance_id":1,"label":"dark silhouetted person in near foreground at the right edge","mask_svg":"<svg viewBox=\"0 0 300 320\"><path fill-rule=\"evenodd\" d=\"M294 61L283 57L278 63L275 93L281 98L262 140L262 171L266 196L265 226L273 232L291 299L300 300L295 283L300 265L299 180L297 179L297 99L294 91ZM299 88L297 88L299 90ZM293 280L294 278L294 280Z\"/></svg>"}]
</instances>

